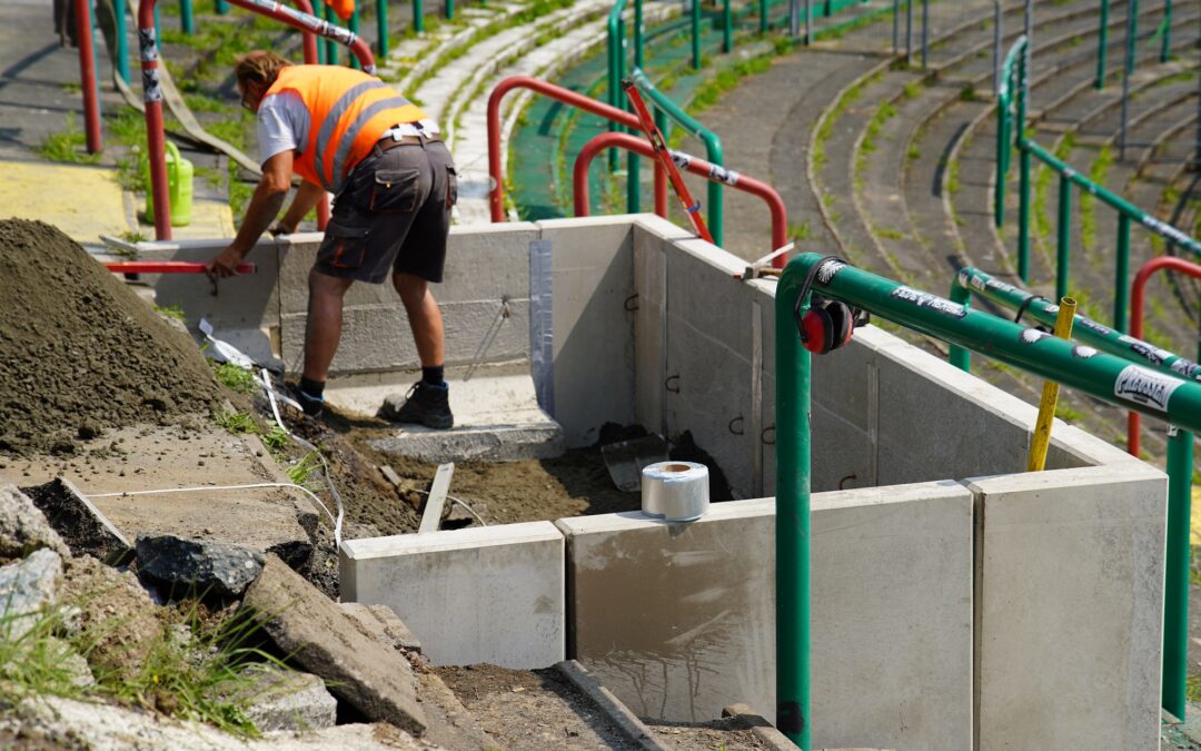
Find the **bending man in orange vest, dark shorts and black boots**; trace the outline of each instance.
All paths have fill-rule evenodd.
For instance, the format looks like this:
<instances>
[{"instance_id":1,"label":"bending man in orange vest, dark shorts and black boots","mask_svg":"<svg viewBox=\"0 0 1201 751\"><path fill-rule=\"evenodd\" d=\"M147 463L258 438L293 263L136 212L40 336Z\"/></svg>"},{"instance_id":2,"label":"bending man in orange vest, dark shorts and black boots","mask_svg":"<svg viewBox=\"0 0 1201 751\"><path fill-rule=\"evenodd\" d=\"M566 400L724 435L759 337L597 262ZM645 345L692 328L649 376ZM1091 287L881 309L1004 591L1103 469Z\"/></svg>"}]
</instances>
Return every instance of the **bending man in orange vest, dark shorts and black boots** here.
<instances>
[{"instance_id":1,"label":"bending man in orange vest, dark shorts and black boots","mask_svg":"<svg viewBox=\"0 0 1201 751\"><path fill-rule=\"evenodd\" d=\"M271 226L291 187L304 181L273 234L334 193L334 210L309 273L304 371L289 387L305 413L319 416L325 377L342 330L342 298L355 281L392 284L404 302L422 360L422 380L384 417L450 428L443 380L442 315L430 282L442 281L458 178L438 129L393 88L360 71L292 65L251 52L235 74L243 107L257 113L263 178L234 240L209 263L229 276Z\"/></svg>"}]
</instances>

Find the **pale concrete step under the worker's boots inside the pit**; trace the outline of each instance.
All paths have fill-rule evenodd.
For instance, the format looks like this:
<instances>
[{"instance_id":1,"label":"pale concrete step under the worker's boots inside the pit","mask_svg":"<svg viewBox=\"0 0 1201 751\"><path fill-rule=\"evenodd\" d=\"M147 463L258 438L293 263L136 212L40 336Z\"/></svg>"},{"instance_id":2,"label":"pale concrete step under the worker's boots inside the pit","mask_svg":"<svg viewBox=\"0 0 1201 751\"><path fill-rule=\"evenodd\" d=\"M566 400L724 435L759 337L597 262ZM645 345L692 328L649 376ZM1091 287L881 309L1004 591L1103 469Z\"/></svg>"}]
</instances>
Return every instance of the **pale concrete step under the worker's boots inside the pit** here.
<instances>
[{"instance_id":1,"label":"pale concrete step under the worker's boots inside the pit","mask_svg":"<svg viewBox=\"0 0 1201 751\"><path fill-rule=\"evenodd\" d=\"M515 461L563 453L563 429L538 406L528 374L489 369L464 380L466 375L464 369L447 374L454 428L380 428L378 437L369 439L368 443L383 453L434 463ZM343 412L374 416L388 397L404 395L419 377L416 374L339 377L330 381L325 400Z\"/></svg>"}]
</instances>

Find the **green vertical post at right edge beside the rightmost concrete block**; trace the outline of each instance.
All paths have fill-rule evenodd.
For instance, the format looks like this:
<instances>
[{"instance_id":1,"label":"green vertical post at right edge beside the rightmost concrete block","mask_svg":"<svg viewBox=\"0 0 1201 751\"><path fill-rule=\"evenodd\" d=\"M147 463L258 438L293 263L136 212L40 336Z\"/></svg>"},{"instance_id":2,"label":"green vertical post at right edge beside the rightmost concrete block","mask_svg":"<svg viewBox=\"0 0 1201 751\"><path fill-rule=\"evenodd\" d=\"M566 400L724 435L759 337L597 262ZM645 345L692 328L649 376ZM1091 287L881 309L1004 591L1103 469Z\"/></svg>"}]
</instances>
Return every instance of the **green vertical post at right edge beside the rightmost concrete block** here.
<instances>
[{"instance_id":1,"label":"green vertical post at right edge beside the rightmost concrete block","mask_svg":"<svg viewBox=\"0 0 1201 751\"><path fill-rule=\"evenodd\" d=\"M1188 705L1189 506L1193 495L1193 433L1167 430L1167 556L1164 561L1163 708L1184 720Z\"/></svg>"}]
</instances>

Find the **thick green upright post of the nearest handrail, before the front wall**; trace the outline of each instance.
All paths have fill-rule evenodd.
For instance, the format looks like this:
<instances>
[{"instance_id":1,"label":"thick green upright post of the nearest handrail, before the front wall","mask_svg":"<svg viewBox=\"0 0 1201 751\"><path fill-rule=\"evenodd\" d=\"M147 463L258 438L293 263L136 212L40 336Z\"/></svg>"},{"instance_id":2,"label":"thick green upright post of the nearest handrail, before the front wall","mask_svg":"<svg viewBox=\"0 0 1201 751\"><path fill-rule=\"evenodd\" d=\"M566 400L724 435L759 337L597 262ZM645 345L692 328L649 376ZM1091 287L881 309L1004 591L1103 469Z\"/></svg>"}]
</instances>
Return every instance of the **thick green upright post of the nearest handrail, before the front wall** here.
<instances>
[{"instance_id":1,"label":"thick green upright post of the nearest handrail, before the front wall","mask_svg":"<svg viewBox=\"0 0 1201 751\"><path fill-rule=\"evenodd\" d=\"M695 1L695 0L694 0ZM809 714L809 351L793 308L809 267L806 254L776 288L776 727L803 751ZM801 302L808 310L808 293Z\"/></svg>"}]
</instances>

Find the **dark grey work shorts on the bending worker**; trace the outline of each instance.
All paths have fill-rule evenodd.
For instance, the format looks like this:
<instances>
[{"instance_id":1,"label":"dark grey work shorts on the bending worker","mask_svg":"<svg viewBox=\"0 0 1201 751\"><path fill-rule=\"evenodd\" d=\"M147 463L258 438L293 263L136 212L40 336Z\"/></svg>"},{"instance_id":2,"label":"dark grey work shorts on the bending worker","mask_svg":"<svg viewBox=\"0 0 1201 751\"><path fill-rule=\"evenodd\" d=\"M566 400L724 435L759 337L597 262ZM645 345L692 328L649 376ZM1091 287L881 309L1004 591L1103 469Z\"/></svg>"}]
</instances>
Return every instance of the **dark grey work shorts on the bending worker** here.
<instances>
[{"instance_id":1,"label":"dark grey work shorts on the bending worker","mask_svg":"<svg viewBox=\"0 0 1201 751\"><path fill-rule=\"evenodd\" d=\"M440 282L458 198L458 175L441 141L387 151L376 145L335 197L313 269L371 284L390 272Z\"/></svg>"}]
</instances>

